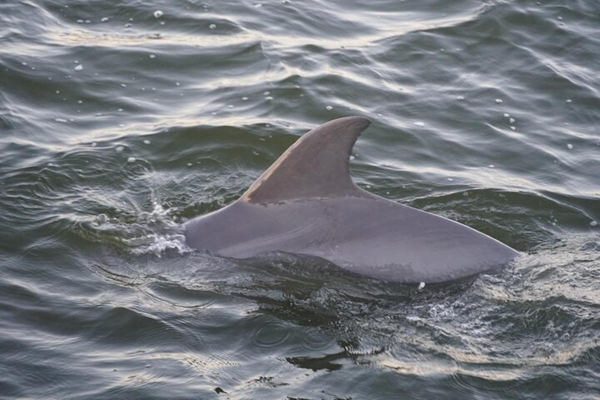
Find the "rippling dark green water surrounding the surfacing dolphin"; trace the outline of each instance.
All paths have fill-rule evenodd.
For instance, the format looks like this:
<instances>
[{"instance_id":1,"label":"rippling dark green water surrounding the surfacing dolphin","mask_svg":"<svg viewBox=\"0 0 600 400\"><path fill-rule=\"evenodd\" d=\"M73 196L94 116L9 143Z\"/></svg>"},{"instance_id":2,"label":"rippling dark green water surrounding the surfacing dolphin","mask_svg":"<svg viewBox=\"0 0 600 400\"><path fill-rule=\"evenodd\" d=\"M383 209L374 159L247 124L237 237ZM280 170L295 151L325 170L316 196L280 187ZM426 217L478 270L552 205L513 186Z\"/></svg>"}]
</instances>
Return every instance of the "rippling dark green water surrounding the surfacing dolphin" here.
<instances>
[{"instance_id":1,"label":"rippling dark green water surrounding the surfacing dolphin","mask_svg":"<svg viewBox=\"0 0 600 400\"><path fill-rule=\"evenodd\" d=\"M185 245L349 115L359 186L521 256L418 290ZM597 0L2 0L0 154L2 400L600 399Z\"/></svg>"}]
</instances>

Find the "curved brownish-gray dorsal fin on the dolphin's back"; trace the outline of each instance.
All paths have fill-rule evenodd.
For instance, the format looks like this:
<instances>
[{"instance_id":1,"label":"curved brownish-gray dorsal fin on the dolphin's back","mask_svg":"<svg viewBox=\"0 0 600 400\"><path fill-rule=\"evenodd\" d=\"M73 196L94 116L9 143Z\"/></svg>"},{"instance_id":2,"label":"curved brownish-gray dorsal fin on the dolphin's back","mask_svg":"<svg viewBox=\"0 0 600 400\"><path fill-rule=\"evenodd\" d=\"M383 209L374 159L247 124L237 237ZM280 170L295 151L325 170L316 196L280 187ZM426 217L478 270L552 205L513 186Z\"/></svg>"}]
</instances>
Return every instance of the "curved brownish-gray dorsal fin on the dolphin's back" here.
<instances>
[{"instance_id":1,"label":"curved brownish-gray dorsal fin on the dolphin's back","mask_svg":"<svg viewBox=\"0 0 600 400\"><path fill-rule=\"evenodd\" d=\"M348 159L371 122L338 118L304 134L244 193L250 203L360 194L350 179Z\"/></svg>"}]
</instances>

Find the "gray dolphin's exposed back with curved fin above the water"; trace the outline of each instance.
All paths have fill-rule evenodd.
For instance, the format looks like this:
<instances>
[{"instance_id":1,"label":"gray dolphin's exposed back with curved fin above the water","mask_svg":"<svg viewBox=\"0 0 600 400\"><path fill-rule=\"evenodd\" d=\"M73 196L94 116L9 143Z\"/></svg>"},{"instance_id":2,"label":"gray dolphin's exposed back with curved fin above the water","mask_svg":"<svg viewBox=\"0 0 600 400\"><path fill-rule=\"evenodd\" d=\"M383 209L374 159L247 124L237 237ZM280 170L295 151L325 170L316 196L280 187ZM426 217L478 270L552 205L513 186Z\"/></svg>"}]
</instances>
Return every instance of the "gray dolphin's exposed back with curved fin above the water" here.
<instances>
[{"instance_id":1,"label":"gray dolphin's exposed back with curved fin above the water","mask_svg":"<svg viewBox=\"0 0 600 400\"><path fill-rule=\"evenodd\" d=\"M368 125L353 116L311 130L240 199L188 222L188 245L232 258L311 255L396 282L451 281L518 255L466 225L357 187L348 160Z\"/></svg>"}]
</instances>

